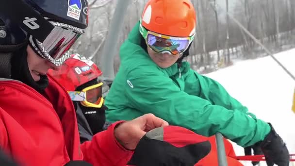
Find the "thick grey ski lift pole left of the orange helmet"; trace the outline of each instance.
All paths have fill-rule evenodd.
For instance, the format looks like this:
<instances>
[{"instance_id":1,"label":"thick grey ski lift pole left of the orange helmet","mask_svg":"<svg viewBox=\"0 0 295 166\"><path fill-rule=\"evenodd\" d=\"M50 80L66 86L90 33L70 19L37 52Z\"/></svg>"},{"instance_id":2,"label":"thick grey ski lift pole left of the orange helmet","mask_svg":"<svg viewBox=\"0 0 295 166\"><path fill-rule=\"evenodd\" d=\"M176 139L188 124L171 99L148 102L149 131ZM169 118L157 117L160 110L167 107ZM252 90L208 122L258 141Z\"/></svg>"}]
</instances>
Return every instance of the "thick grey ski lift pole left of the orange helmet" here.
<instances>
[{"instance_id":1,"label":"thick grey ski lift pole left of the orange helmet","mask_svg":"<svg viewBox=\"0 0 295 166\"><path fill-rule=\"evenodd\" d=\"M105 44L102 48L102 57L100 67L103 71L103 78L113 80L114 57L121 30L123 29L124 17L131 0L117 0L115 13L111 19L108 34L105 38Z\"/></svg>"}]
</instances>

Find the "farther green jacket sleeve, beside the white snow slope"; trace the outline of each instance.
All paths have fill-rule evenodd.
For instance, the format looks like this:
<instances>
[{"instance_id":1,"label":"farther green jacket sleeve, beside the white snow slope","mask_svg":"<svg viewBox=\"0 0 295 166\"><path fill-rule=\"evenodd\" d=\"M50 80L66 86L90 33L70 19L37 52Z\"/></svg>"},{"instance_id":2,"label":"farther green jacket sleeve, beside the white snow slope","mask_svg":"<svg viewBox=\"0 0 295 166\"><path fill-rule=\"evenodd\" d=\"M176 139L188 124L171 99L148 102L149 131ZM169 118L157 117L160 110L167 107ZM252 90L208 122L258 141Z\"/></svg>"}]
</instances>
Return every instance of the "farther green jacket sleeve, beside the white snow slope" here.
<instances>
[{"instance_id":1,"label":"farther green jacket sleeve, beside the white snow slope","mask_svg":"<svg viewBox=\"0 0 295 166\"><path fill-rule=\"evenodd\" d=\"M213 105L220 105L229 110L248 112L248 109L238 100L232 98L220 83L201 76L192 69L189 69L185 75L184 82L184 91L190 95L199 96L202 99L209 100ZM253 115L251 114L251 116Z\"/></svg>"}]
</instances>

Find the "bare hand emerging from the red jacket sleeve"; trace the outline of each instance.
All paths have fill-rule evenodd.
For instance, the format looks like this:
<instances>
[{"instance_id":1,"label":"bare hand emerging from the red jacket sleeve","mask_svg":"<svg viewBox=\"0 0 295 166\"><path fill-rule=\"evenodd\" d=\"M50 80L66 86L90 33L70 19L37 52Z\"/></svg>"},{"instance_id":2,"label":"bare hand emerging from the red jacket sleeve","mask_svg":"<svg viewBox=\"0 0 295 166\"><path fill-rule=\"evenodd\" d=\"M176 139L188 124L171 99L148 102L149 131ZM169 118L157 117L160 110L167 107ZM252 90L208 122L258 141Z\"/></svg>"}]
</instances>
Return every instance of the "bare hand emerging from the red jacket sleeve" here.
<instances>
[{"instance_id":1,"label":"bare hand emerging from the red jacket sleeve","mask_svg":"<svg viewBox=\"0 0 295 166\"><path fill-rule=\"evenodd\" d=\"M116 126L114 134L123 147L133 150L148 131L167 125L168 123L163 119L153 114L146 114L131 121L120 123Z\"/></svg>"}]
</instances>

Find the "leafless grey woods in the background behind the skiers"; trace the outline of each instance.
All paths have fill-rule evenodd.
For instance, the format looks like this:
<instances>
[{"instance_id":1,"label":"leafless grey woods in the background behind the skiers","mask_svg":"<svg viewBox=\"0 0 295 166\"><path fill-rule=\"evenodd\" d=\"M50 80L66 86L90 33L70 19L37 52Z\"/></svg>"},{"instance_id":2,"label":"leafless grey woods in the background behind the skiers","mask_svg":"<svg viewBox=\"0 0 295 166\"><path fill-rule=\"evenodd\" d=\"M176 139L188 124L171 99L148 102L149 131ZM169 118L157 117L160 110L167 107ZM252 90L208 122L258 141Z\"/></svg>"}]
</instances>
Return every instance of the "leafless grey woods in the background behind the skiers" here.
<instances>
[{"instance_id":1,"label":"leafless grey woods in the background behind the skiers","mask_svg":"<svg viewBox=\"0 0 295 166\"><path fill-rule=\"evenodd\" d=\"M212 1L212 5L209 1ZM229 0L222 1L231 4ZM72 47L72 52L81 53L91 58L98 66L100 65L101 48L108 33L116 2L117 0L89 1L89 26L86 34L82 35ZM115 72L120 65L120 46L139 21L146 2L147 0L134 0L125 14L127 18L124 28L118 30L121 34L119 41L115 41L119 43L118 47L114 48L118 52L115 56ZM188 60L194 67L208 69L208 66L214 66L221 61L224 62L222 65L230 65L230 60L249 58L249 54L252 58L261 56L262 48L255 44L229 17L223 17L224 13L216 8L217 2L220 0L192 0L197 11L197 35L190 50L193 56L188 57ZM274 51L280 50L284 44L295 44L293 37L295 0L236 0L234 8L227 5L226 11ZM217 55L212 51L217 51Z\"/></svg>"}]
</instances>

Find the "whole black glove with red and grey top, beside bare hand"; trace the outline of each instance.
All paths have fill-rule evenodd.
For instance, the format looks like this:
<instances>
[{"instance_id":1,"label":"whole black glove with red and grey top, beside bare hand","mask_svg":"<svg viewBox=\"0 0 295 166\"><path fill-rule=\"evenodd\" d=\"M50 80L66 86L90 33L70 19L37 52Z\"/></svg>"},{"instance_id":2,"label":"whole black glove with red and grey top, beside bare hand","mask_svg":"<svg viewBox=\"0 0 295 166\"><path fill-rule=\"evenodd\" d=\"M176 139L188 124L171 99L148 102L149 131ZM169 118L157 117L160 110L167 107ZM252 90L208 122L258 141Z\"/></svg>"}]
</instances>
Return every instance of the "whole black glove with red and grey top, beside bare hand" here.
<instances>
[{"instance_id":1,"label":"whole black glove with red and grey top, beside bare hand","mask_svg":"<svg viewBox=\"0 0 295 166\"><path fill-rule=\"evenodd\" d=\"M160 127L139 140L127 165L194 166L210 151L206 137L177 126Z\"/></svg>"}]
</instances>

